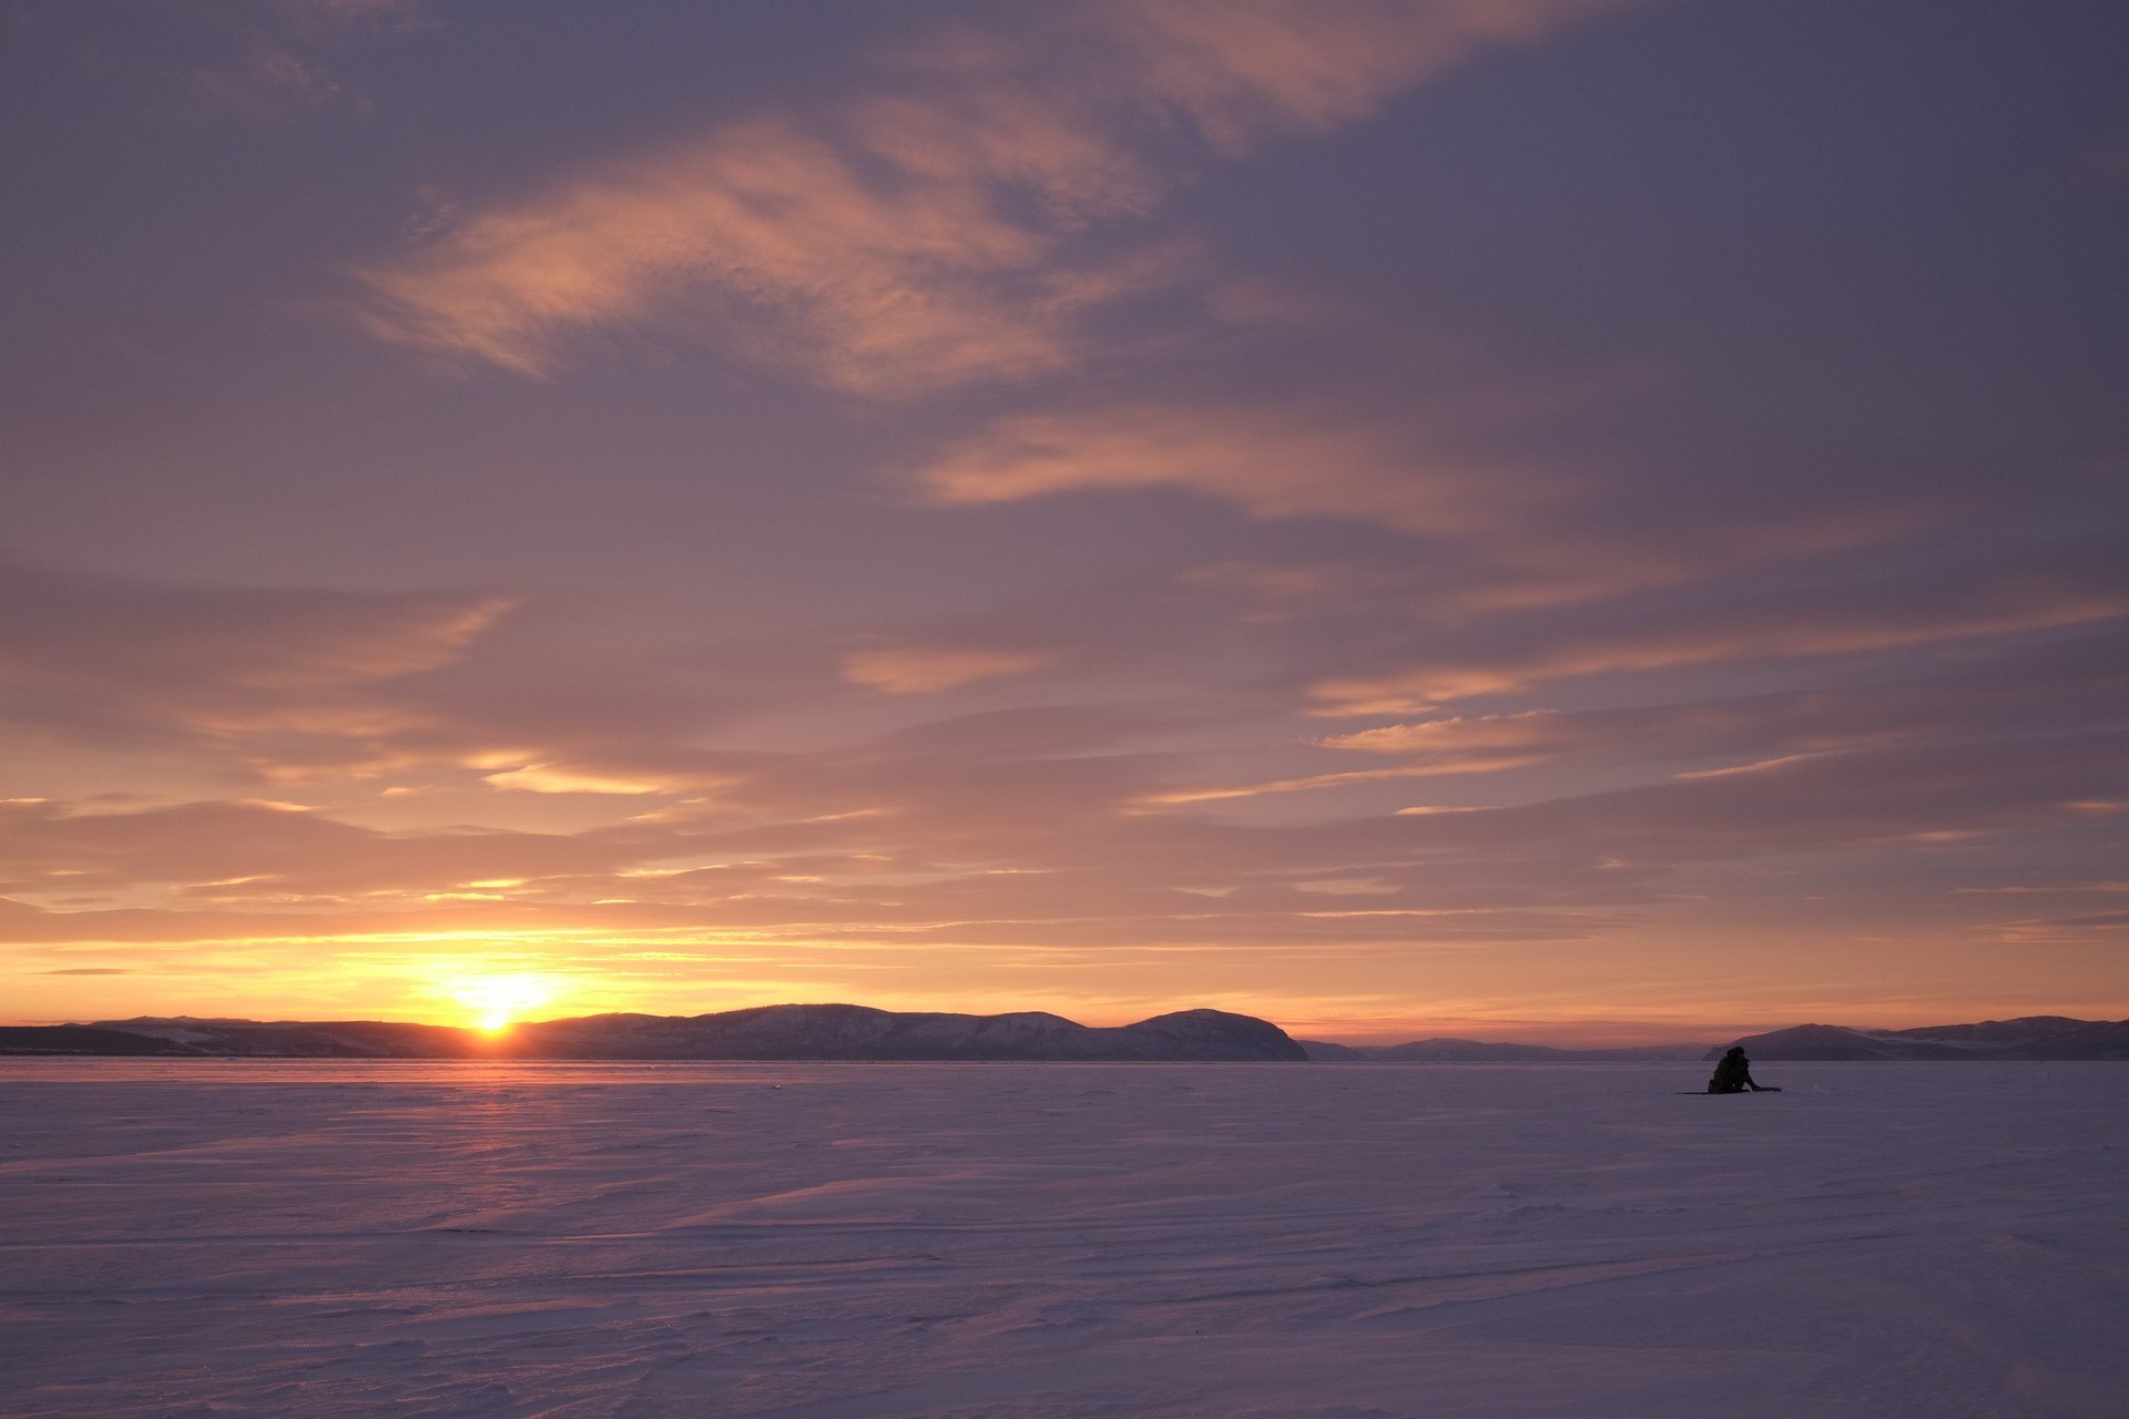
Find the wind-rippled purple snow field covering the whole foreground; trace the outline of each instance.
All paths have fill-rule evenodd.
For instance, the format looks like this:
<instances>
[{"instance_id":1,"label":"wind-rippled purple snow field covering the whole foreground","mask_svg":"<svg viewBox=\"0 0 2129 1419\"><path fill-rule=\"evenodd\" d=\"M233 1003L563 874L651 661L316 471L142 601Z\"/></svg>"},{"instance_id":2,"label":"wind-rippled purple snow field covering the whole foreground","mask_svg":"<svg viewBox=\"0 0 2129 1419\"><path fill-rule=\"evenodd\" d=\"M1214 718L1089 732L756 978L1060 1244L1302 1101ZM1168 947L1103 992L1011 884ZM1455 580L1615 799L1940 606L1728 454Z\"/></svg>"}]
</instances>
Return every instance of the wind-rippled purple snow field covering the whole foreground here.
<instances>
[{"instance_id":1,"label":"wind-rippled purple snow field covering the whole foreground","mask_svg":"<svg viewBox=\"0 0 2129 1419\"><path fill-rule=\"evenodd\" d=\"M2118 1064L0 1064L0 1413L2110 1415Z\"/></svg>"}]
</instances>

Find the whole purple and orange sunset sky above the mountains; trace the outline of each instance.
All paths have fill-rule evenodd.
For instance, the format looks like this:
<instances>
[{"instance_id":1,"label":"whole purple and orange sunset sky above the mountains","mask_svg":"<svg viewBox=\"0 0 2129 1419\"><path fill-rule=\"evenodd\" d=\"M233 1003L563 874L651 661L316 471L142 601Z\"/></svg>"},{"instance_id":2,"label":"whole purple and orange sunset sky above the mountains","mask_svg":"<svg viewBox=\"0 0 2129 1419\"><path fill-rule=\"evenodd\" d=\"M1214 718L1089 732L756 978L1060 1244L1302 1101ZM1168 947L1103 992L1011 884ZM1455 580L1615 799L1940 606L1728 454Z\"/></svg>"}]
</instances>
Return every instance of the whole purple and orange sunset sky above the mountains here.
<instances>
[{"instance_id":1,"label":"whole purple and orange sunset sky above the mountains","mask_svg":"<svg viewBox=\"0 0 2129 1419\"><path fill-rule=\"evenodd\" d=\"M2118 0L0 0L0 1017L2129 1015Z\"/></svg>"}]
</instances>

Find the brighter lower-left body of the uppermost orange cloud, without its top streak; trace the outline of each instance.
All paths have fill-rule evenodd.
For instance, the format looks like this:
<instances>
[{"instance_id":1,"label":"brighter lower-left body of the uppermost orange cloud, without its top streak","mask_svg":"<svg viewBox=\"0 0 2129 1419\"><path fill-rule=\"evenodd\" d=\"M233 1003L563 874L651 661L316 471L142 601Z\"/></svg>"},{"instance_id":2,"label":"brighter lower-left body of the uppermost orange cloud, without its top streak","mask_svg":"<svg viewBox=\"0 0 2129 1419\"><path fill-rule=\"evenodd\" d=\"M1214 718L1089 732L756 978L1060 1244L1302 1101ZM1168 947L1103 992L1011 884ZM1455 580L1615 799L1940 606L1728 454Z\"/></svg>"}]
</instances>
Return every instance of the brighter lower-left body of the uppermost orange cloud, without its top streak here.
<instances>
[{"instance_id":1,"label":"brighter lower-left body of the uppermost orange cloud, without its top streak","mask_svg":"<svg viewBox=\"0 0 2129 1419\"><path fill-rule=\"evenodd\" d=\"M990 211L979 174L911 179L879 189L856 155L786 121L730 128L362 272L366 319L524 374L573 330L675 308L860 394L1067 364L1064 328L1088 298L1039 270L1045 238ZM1030 281L1020 300L988 291L1007 277Z\"/></svg>"}]
</instances>

